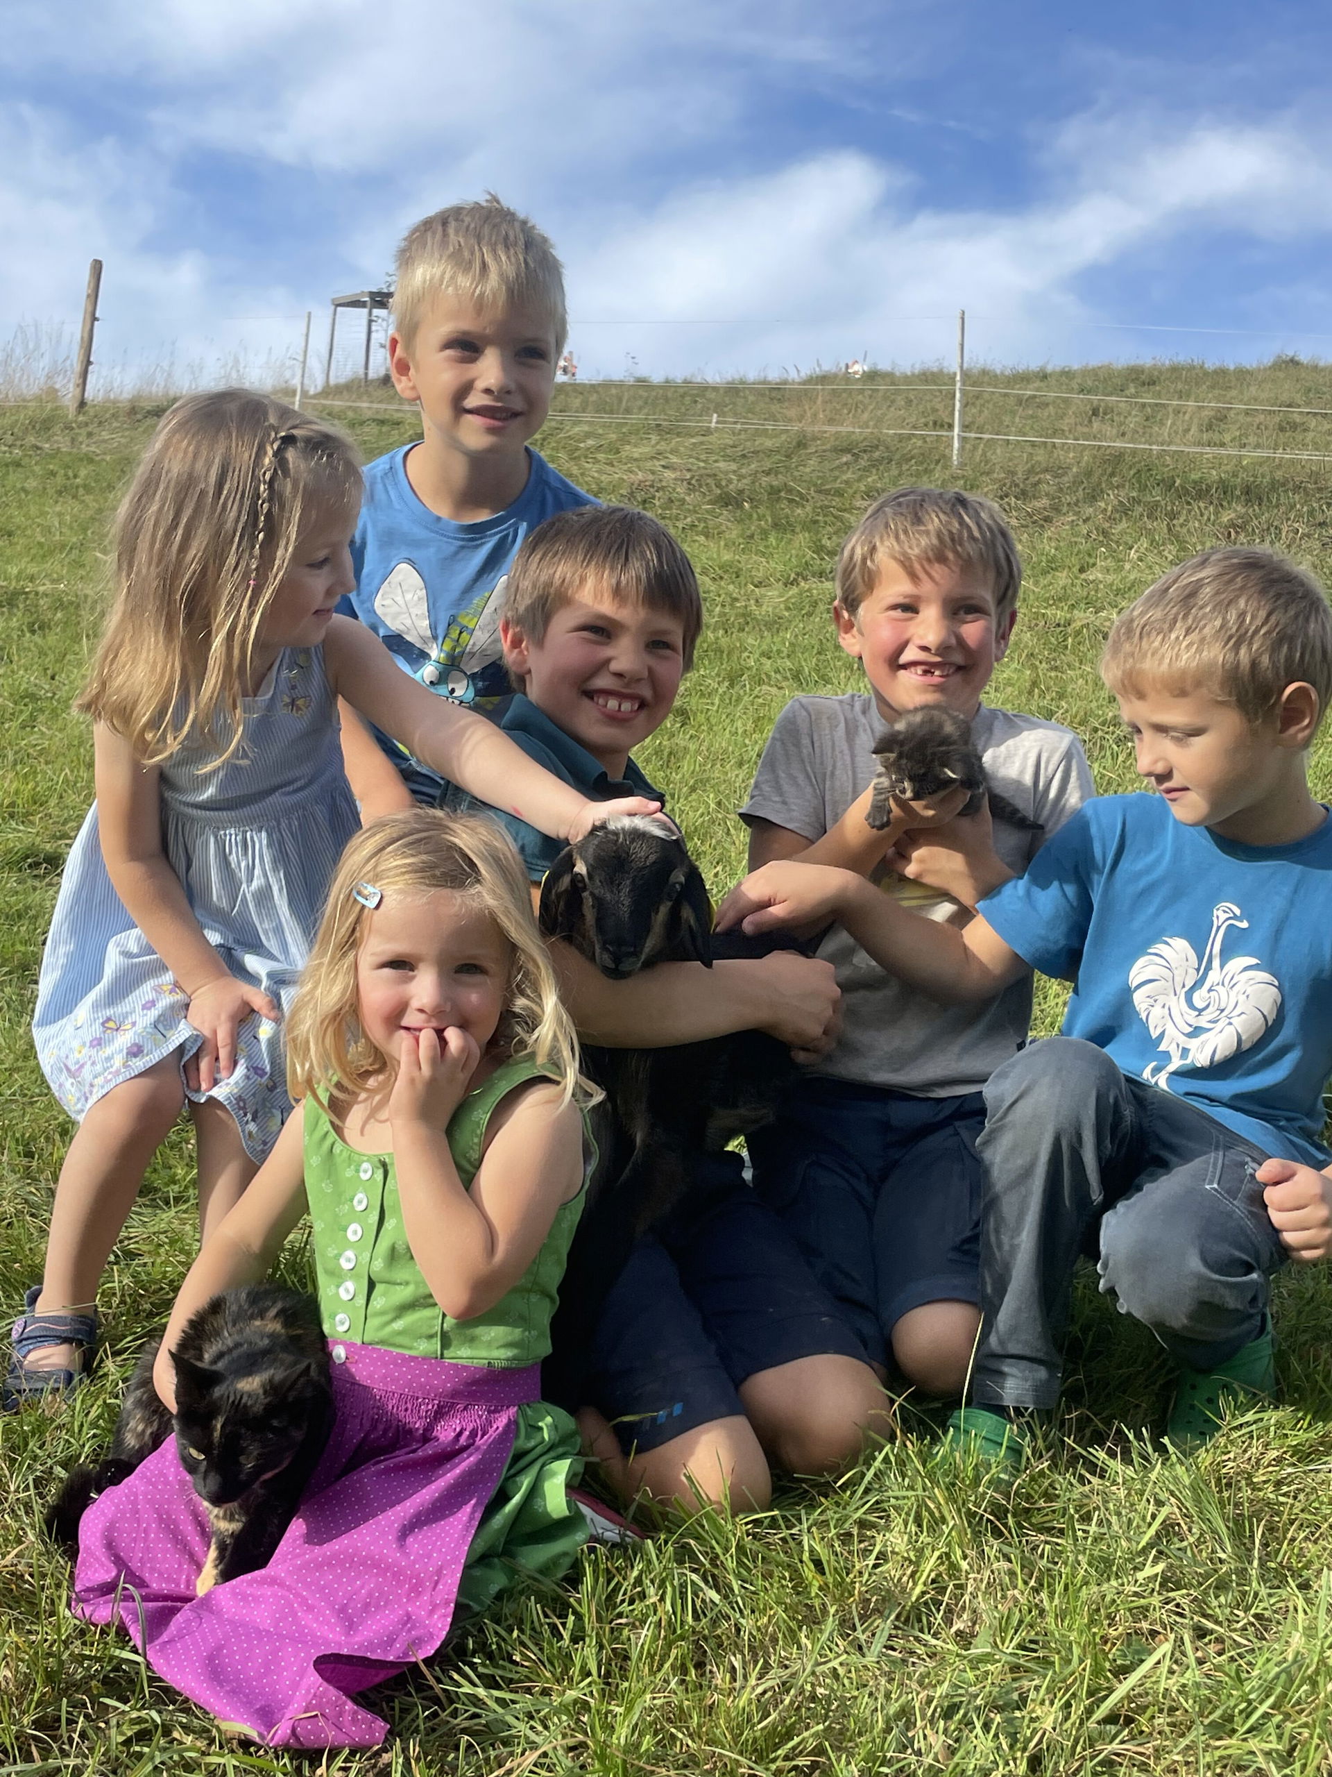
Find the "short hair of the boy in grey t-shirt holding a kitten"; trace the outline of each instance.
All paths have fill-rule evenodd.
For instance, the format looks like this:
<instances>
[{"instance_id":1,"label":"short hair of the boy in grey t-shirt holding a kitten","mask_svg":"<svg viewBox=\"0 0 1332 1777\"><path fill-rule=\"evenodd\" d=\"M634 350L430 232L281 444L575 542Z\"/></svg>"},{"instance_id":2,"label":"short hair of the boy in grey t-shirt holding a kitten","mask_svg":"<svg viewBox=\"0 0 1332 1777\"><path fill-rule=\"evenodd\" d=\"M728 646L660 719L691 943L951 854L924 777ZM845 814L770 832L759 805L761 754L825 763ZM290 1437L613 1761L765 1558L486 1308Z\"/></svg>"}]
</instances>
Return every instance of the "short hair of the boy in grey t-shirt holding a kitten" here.
<instances>
[{"instance_id":1,"label":"short hair of the boy in grey t-shirt holding a kitten","mask_svg":"<svg viewBox=\"0 0 1332 1777\"><path fill-rule=\"evenodd\" d=\"M836 558L836 602L854 617L886 562L913 579L925 567L970 567L989 581L995 622L1018 610L1023 565L1000 508L980 494L899 487L876 499Z\"/></svg>"}]
</instances>

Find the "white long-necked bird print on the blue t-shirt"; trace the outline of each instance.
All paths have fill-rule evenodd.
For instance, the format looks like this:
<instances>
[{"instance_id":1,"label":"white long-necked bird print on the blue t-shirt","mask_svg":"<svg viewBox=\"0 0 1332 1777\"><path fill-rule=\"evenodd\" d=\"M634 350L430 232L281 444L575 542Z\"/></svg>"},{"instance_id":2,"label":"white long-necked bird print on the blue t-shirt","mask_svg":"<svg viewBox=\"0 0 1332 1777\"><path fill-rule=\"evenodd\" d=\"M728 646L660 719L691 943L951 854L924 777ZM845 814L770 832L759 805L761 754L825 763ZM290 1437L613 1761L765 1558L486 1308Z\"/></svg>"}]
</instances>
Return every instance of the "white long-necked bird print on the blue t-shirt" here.
<instances>
[{"instance_id":1,"label":"white long-necked bird print on the blue t-shirt","mask_svg":"<svg viewBox=\"0 0 1332 1777\"><path fill-rule=\"evenodd\" d=\"M1227 926L1249 928L1240 908L1211 910L1211 936L1199 963L1188 938L1162 938L1128 974L1138 1016L1167 1054L1165 1066L1144 1068L1151 1086L1170 1091L1176 1068L1215 1068L1240 1056L1272 1027L1280 1011L1280 983L1256 956L1220 960Z\"/></svg>"}]
</instances>

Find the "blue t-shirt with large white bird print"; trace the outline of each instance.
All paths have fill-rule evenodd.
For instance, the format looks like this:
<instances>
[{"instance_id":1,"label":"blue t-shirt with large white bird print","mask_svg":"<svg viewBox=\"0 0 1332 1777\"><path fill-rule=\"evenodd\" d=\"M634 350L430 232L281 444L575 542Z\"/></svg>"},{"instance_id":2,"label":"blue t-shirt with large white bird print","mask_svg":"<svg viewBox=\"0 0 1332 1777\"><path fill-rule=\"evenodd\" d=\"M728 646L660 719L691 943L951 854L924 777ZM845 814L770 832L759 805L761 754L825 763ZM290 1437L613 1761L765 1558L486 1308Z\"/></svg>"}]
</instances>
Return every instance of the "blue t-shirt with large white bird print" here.
<instances>
[{"instance_id":1,"label":"blue t-shirt with large white bird print","mask_svg":"<svg viewBox=\"0 0 1332 1777\"><path fill-rule=\"evenodd\" d=\"M1293 846L1183 826L1154 794L1089 801L980 903L1074 983L1064 1036L1289 1160L1325 1166L1332 821Z\"/></svg>"}]
</instances>

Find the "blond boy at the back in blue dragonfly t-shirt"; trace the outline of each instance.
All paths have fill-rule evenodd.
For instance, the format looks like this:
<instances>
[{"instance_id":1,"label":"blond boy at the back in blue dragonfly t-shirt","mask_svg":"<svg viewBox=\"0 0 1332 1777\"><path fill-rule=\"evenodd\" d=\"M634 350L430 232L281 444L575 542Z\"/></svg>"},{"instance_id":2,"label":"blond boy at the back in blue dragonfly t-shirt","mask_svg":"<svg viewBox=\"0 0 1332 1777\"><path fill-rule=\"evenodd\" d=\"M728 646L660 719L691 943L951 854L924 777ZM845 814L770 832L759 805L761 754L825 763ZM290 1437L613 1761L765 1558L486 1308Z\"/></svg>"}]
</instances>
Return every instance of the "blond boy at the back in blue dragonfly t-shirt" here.
<instances>
[{"instance_id":1,"label":"blond boy at the back in blue dragonfly t-shirt","mask_svg":"<svg viewBox=\"0 0 1332 1777\"><path fill-rule=\"evenodd\" d=\"M565 283L547 236L497 197L424 217L398 249L389 368L421 439L366 469L348 617L440 697L497 713L504 576L543 519L595 505L527 439L551 407ZM343 705L346 773L366 817L435 803L442 778Z\"/></svg>"}]
</instances>

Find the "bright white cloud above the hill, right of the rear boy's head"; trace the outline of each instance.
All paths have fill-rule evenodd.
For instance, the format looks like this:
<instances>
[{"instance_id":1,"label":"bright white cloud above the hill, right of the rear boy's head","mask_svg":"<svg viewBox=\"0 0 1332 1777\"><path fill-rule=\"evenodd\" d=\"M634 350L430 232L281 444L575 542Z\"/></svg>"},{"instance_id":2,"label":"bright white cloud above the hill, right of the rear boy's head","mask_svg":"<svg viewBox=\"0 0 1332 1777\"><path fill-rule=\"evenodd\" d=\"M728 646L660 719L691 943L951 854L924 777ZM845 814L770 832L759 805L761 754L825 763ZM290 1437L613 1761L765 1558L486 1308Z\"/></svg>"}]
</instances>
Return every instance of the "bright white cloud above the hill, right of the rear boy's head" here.
<instances>
[{"instance_id":1,"label":"bright white cloud above the hill, right of the rear boy's head","mask_svg":"<svg viewBox=\"0 0 1332 1777\"><path fill-rule=\"evenodd\" d=\"M670 373L867 350L877 363L947 361L966 307L984 359L1058 361L1085 355L1087 323L1103 320L1078 295L1089 272L1172 238L1195 243L1201 229L1332 231L1332 153L1280 128L1209 124L1146 142L1105 126L1058 147L1060 195L1007 213L915 206L915 185L860 153L675 194L570 256L575 350L611 373L625 352ZM716 325L742 316L742 329ZM668 325L623 325L648 318Z\"/></svg>"}]
</instances>

